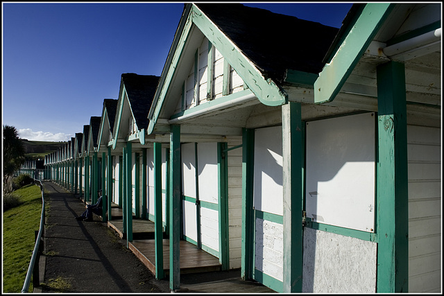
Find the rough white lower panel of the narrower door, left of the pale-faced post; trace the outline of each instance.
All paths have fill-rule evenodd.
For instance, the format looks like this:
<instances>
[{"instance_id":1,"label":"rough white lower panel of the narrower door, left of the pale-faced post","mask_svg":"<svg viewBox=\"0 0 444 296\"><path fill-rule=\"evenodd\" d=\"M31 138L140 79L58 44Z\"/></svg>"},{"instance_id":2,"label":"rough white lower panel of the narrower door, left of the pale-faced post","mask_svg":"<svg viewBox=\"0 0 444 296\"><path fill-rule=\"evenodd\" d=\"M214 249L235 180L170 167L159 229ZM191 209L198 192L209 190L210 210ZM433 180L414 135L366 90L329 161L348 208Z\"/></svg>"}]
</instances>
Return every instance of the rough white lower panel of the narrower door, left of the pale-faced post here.
<instances>
[{"instance_id":1,"label":"rough white lower panel of the narrower door, left of the pale-faced post","mask_svg":"<svg viewBox=\"0 0 444 296\"><path fill-rule=\"evenodd\" d=\"M255 268L266 275L283 281L284 260L283 225L256 218Z\"/></svg>"}]
</instances>

